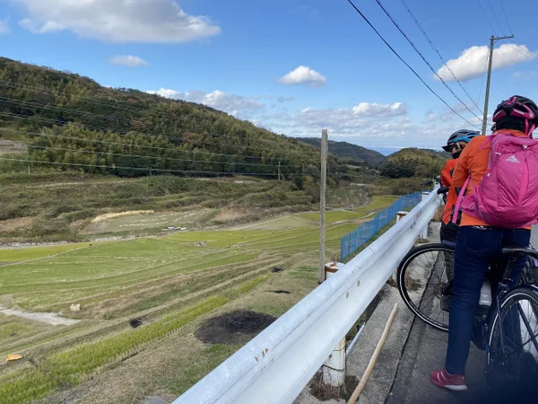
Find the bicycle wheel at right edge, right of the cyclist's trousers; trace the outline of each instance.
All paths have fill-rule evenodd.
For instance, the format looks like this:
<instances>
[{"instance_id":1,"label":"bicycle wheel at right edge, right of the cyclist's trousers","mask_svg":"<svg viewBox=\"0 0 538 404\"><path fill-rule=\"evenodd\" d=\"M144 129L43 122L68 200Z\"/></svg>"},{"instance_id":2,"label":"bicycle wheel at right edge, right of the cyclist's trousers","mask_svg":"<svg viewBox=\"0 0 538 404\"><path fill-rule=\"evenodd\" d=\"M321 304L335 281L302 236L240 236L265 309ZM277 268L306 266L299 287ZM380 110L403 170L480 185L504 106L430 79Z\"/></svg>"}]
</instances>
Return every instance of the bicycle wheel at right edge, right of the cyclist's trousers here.
<instances>
[{"instance_id":1,"label":"bicycle wheel at right edge, right of the cyclist's trousers","mask_svg":"<svg viewBox=\"0 0 538 404\"><path fill-rule=\"evenodd\" d=\"M490 319L484 374L491 390L531 391L538 380L538 289L517 287Z\"/></svg>"}]
</instances>

